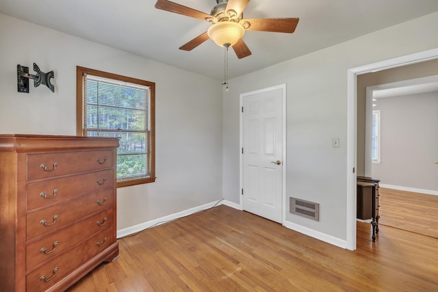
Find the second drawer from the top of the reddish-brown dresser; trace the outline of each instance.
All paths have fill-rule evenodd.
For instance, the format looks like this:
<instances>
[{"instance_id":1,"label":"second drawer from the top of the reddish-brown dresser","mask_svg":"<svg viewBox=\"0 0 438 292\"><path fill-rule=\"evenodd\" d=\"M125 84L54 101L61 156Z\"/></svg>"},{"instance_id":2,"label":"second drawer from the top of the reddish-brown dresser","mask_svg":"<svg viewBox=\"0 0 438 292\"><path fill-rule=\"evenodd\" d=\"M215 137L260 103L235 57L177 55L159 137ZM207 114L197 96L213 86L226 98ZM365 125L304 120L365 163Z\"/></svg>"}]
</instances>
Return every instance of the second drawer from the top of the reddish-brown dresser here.
<instances>
[{"instance_id":1,"label":"second drawer from the top of the reddish-brown dresser","mask_svg":"<svg viewBox=\"0 0 438 292\"><path fill-rule=\"evenodd\" d=\"M112 187L113 183L113 170L29 183L26 186L27 210Z\"/></svg>"}]
</instances>

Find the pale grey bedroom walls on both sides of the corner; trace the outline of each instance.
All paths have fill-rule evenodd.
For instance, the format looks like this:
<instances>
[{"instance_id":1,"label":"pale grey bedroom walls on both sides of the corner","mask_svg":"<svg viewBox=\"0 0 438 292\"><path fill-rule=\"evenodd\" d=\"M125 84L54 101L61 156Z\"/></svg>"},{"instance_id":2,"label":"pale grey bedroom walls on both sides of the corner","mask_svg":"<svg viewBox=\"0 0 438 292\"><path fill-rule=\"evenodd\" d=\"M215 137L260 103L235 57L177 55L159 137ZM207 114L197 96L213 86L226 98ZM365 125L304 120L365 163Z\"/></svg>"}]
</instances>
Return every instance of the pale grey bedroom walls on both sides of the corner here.
<instances>
[{"instance_id":1,"label":"pale grey bedroom walls on both sides of the corner","mask_svg":"<svg viewBox=\"0 0 438 292\"><path fill-rule=\"evenodd\" d=\"M437 48L437 27L438 13L430 14L297 57L232 79L222 98L221 81L0 14L0 133L75 135L76 66L157 83L157 181L118 189L120 230L222 196L238 204L239 96L286 83L287 197L321 204L320 222L292 214L286 222L342 245L347 70ZM54 94L33 81L30 94L16 92L16 65L34 62L55 70ZM333 137L339 148L331 147Z\"/></svg>"}]
</instances>

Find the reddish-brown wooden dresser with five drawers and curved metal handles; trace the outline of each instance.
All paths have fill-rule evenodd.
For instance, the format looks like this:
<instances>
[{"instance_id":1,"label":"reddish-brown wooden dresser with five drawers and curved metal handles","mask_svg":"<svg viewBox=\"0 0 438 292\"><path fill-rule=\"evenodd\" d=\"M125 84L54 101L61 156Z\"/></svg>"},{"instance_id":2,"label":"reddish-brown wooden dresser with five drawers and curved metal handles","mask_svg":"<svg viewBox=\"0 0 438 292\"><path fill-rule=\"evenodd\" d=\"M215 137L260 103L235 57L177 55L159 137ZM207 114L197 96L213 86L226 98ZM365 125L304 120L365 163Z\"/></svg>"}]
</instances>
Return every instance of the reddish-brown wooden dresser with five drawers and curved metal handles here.
<instances>
[{"instance_id":1,"label":"reddish-brown wooden dresser with five drawers and curved metal handles","mask_svg":"<svg viewBox=\"0 0 438 292\"><path fill-rule=\"evenodd\" d=\"M0 291L64 291L118 256L116 138L0 135Z\"/></svg>"}]
</instances>

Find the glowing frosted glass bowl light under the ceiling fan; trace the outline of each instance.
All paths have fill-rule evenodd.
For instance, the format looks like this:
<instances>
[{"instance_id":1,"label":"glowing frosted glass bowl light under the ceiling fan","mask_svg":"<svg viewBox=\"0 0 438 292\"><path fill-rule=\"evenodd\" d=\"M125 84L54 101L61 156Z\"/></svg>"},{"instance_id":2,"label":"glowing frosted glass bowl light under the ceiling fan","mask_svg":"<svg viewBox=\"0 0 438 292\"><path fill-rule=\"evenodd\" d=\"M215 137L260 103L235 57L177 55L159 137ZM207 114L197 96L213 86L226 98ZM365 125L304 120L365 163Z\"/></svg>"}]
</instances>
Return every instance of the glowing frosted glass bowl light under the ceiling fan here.
<instances>
[{"instance_id":1,"label":"glowing frosted glass bowl light under the ceiling fan","mask_svg":"<svg viewBox=\"0 0 438 292\"><path fill-rule=\"evenodd\" d=\"M207 34L219 47L233 47L245 34L245 29L233 21L221 21L209 27Z\"/></svg>"}]
</instances>

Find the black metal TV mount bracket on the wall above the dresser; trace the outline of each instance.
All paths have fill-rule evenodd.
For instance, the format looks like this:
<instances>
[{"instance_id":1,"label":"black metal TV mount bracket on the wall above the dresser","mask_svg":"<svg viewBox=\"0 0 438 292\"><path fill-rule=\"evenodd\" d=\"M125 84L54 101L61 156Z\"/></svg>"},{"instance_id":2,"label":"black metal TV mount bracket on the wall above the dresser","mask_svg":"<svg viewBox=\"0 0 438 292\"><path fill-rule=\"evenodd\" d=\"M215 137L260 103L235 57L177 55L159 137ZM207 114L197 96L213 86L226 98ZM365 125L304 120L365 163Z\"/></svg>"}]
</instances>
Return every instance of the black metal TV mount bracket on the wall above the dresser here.
<instances>
[{"instance_id":1,"label":"black metal TV mount bracket on the wall above the dresser","mask_svg":"<svg viewBox=\"0 0 438 292\"><path fill-rule=\"evenodd\" d=\"M55 92L55 86L51 83L51 79L54 77L53 70L47 73L41 72L38 65L34 63L34 71L36 75L29 74L29 67L21 66L20 64L16 66L18 92L29 93L29 79L34 79L34 87L44 84L47 85L51 92Z\"/></svg>"}]
</instances>

